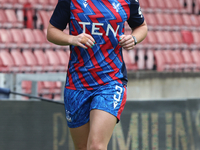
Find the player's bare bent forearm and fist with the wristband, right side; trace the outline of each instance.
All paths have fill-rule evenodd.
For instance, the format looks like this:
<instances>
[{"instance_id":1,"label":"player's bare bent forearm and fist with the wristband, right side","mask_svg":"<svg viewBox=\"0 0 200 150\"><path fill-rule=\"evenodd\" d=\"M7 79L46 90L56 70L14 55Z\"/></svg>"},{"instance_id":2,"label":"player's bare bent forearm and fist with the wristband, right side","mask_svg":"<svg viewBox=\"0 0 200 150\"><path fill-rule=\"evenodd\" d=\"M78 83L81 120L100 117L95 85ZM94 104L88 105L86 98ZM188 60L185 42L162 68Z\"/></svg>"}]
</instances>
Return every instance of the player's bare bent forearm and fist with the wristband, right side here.
<instances>
[{"instance_id":1,"label":"player's bare bent forearm and fist with the wristband, right side","mask_svg":"<svg viewBox=\"0 0 200 150\"><path fill-rule=\"evenodd\" d=\"M119 45L122 46L125 50L132 50L136 45L135 40L137 40L137 43L142 42L147 36L147 32L148 28L146 21L144 20L140 26L132 28L132 34L120 36ZM133 36L135 38L133 38Z\"/></svg>"}]
</instances>

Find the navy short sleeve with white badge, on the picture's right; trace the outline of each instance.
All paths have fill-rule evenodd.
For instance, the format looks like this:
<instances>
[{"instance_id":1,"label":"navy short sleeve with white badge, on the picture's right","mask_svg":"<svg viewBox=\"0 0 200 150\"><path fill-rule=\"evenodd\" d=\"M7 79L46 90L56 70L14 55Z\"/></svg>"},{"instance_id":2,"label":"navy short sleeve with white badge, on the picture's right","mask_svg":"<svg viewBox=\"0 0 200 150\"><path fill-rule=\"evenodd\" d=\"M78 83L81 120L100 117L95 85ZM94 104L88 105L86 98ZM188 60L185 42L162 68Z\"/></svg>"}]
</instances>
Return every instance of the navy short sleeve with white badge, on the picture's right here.
<instances>
[{"instance_id":1,"label":"navy short sleeve with white badge, on the picture's right","mask_svg":"<svg viewBox=\"0 0 200 150\"><path fill-rule=\"evenodd\" d=\"M131 28L136 28L144 22L139 0L130 0L130 17L127 22Z\"/></svg>"}]
</instances>

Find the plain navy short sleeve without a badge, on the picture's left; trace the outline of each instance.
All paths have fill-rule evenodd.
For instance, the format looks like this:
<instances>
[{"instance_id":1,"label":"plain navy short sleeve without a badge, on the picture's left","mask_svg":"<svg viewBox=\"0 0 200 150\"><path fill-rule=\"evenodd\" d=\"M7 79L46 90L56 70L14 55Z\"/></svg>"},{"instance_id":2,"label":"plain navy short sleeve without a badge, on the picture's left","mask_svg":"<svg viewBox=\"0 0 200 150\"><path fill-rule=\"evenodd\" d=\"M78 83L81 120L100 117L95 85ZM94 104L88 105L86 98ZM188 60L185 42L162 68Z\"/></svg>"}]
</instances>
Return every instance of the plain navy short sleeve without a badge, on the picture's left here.
<instances>
[{"instance_id":1,"label":"plain navy short sleeve without a badge, on the picture's left","mask_svg":"<svg viewBox=\"0 0 200 150\"><path fill-rule=\"evenodd\" d=\"M61 30L64 30L67 23L70 22L70 1L71 0L59 0L56 8L50 18L50 23Z\"/></svg>"}]
</instances>

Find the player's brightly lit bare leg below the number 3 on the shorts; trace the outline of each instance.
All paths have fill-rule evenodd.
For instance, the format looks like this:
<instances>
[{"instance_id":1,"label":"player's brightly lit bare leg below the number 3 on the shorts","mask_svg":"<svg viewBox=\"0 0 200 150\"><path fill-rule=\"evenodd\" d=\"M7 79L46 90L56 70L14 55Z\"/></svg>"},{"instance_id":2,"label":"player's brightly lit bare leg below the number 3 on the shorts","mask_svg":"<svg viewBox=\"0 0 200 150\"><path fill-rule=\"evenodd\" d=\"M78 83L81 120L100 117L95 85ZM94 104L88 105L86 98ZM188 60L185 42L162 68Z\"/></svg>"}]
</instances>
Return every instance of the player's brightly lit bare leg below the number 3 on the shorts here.
<instances>
[{"instance_id":1,"label":"player's brightly lit bare leg below the number 3 on the shorts","mask_svg":"<svg viewBox=\"0 0 200 150\"><path fill-rule=\"evenodd\" d=\"M87 150L107 150L117 118L102 110L90 111L90 132Z\"/></svg>"}]
</instances>

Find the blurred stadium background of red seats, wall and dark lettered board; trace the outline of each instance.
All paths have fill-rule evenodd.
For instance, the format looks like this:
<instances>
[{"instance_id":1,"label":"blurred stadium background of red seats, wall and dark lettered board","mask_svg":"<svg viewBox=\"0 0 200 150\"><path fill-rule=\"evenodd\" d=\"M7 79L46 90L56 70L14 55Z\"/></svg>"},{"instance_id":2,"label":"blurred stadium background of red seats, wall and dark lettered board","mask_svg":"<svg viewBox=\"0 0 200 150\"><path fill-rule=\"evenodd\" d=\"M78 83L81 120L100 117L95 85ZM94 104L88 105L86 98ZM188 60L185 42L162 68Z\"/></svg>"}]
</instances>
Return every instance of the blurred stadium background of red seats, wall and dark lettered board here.
<instances>
[{"instance_id":1,"label":"blurred stadium background of red seats, wall and dark lettered board","mask_svg":"<svg viewBox=\"0 0 200 150\"><path fill-rule=\"evenodd\" d=\"M149 32L123 50L129 105L109 150L199 150L200 0L139 2ZM69 47L46 40L56 3L0 0L0 87L63 100ZM62 107L0 94L0 150L73 149Z\"/></svg>"}]
</instances>

